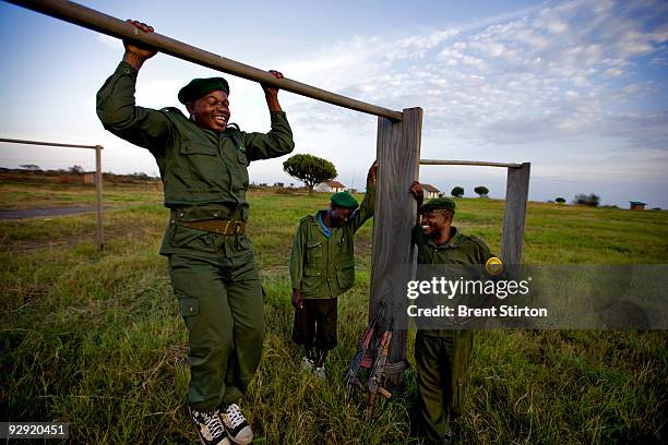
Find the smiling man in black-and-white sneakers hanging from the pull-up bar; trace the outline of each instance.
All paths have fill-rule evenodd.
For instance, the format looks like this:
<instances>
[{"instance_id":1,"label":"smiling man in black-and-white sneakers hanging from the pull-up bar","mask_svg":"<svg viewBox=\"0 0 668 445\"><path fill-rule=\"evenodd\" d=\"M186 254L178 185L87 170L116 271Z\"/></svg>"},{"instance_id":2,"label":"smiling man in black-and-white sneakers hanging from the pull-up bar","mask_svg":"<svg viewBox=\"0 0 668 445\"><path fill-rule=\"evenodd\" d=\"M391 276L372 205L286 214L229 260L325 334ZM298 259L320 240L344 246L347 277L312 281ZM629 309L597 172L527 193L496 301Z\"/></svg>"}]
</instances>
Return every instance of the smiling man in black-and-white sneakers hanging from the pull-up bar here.
<instances>
[{"instance_id":1,"label":"smiling man in black-and-white sneakers hanging from the pull-up bar","mask_svg":"<svg viewBox=\"0 0 668 445\"><path fill-rule=\"evenodd\" d=\"M142 32L151 26L129 21ZM263 296L250 240L248 165L294 148L277 88L263 85L272 129L246 133L229 120L229 86L222 77L195 79L177 108L135 106L138 71L156 51L126 43L116 72L97 94L105 129L155 157L170 209L160 254L189 332L191 380L187 410L202 443L247 444L252 431L237 401L262 356ZM283 75L272 72L276 77Z\"/></svg>"}]
</instances>

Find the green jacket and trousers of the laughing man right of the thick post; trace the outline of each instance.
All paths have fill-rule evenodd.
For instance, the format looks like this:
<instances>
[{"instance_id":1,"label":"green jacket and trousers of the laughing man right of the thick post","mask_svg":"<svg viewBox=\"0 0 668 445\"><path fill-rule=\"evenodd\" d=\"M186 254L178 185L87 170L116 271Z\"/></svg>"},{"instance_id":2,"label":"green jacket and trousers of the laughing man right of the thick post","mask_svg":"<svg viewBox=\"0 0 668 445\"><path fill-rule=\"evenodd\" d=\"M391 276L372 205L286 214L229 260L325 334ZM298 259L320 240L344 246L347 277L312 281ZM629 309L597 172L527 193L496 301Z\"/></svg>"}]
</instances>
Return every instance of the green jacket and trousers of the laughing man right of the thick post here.
<instances>
[{"instance_id":1,"label":"green jacket and trousers of the laughing man right of the thick post","mask_svg":"<svg viewBox=\"0 0 668 445\"><path fill-rule=\"evenodd\" d=\"M451 227L443 244L425 236L418 225L413 230L418 264L484 265L493 256L484 241ZM415 339L418 371L419 414L427 435L439 441L451 420L463 411L468 374L472 330L419 329Z\"/></svg>"}]
</instances>

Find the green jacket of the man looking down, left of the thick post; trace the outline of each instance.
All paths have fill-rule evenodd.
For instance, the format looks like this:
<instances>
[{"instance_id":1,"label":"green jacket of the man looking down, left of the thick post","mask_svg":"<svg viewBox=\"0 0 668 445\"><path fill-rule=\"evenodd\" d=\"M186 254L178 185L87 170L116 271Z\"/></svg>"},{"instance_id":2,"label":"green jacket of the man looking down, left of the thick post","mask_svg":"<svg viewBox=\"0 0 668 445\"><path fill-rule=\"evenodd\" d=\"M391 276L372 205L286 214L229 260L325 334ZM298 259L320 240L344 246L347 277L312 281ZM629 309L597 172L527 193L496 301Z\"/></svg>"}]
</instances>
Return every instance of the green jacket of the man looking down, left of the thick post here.
<instances>
[{"instance_id":1,"label":"green jacket of the man looking down, left of the thick post","mask_svg":"<svg viewBox=\"0 0 668 445\"><path fill-rule=\"evenodd\" d=\"M290 256L293 289L303 299L335 298L355 282L355 232L373 216L375 188L369 187L359 208L343 227L327 238L318 220L319 212L299 221Z\"/></svg>"}]
</instances>

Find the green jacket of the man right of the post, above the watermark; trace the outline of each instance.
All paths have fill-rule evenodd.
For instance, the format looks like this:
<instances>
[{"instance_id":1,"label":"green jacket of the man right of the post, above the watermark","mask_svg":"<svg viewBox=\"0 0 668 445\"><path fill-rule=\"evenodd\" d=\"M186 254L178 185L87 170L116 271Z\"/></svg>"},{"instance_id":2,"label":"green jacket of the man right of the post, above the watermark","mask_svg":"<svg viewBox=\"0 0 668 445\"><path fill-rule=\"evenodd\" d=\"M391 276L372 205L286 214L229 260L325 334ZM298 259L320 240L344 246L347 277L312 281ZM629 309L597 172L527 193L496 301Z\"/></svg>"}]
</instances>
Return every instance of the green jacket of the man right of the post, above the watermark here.
<instances>
[{"instance_id":1,"label":"green jacket of the man right of the post, above the watermark","mask_svg":"<svg viewBox=\"0 0 668 445\"><path fill-rule=\"evenodd\" d=\"M418 248L418 264L485 265L493 256L485 241L460 233L456 227L451 227L448 242L438 245L417 225L413 228L413 242Z\"/></svg>"}]
</instances>

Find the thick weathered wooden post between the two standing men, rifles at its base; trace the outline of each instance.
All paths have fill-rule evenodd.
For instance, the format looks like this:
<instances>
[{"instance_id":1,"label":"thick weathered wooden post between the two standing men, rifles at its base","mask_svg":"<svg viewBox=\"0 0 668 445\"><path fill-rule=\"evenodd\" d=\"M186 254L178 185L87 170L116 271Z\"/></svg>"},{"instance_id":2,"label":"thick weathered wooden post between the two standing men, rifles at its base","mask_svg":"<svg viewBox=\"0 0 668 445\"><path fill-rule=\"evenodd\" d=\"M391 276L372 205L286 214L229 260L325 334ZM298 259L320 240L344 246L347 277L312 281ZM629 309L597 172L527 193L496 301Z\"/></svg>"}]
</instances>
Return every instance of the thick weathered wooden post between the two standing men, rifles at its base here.
<instances>
[{"instance_id":1,"label":"thick weathered wooden post between the two standing men, rifles at its base","mask_svg":"<svg viewBox=\"0 0 668 445\"><path fill-rule=\"evenodd\" d=\"M402 326L407 326L408 317L406 289L393 284L411 279L407 266L414 263L410 230L415 226L416 205L408 191L419 175L421 131L421 108L405 109L399 122L378 119L379 169L369 320L384 301L387 304L385 321L394 318L394 325L398 326L394 329L389 360L389 378L395 385L402 384L404 378L407 330Z\"/></svg>"}]
</instances>

